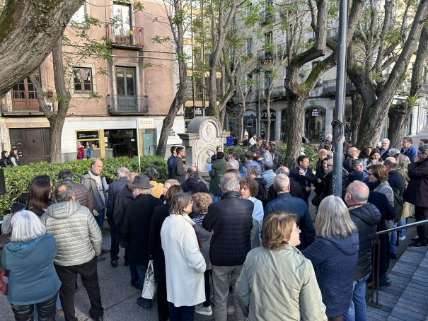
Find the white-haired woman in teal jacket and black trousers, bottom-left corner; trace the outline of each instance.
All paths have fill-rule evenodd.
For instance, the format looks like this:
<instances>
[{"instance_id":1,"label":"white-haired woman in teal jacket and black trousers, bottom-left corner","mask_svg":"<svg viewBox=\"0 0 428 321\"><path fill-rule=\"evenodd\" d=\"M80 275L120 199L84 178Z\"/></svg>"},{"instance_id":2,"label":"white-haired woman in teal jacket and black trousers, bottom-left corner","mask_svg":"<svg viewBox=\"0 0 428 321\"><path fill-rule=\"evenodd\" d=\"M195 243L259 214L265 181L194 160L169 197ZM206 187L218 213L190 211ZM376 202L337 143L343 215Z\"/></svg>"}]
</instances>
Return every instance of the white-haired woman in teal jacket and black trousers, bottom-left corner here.
<instances>
[{"instance_id":1,"label":"white-haired woman in teal jacket and black trousers, bottom-left corner","mask_svg":"<svg viewBox=\"0 0 428 321\"><path fill-rule=\"evenodd\" d=\"M32 211L19 211L11 220L11 242L1 255L9 271L7 300L16 320L54 320L61 281L54 268L57 243Z\"/></svg>"}]
</instances>

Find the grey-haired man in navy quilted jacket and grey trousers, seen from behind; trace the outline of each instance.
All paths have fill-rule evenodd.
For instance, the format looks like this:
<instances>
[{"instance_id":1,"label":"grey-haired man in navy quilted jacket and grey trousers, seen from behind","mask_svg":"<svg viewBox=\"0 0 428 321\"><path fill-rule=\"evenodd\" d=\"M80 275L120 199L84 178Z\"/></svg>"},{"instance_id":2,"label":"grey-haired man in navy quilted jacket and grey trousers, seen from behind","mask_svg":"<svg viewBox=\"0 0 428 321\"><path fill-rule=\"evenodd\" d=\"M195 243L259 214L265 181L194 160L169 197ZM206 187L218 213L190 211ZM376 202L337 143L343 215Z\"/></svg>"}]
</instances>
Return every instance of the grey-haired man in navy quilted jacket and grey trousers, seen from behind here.
<instances>
[{"instance_id":1,"label":"grey-haired man in navy quilted jacket and grey trousers, seen from behind","mask_svg":"<svg viewBox=\"0 0 428 321\"><path fill-rule=\"evenodd\" d=\"M221 201L209 205L208 213L202 221L203 228L213 232L209 258L216 285L214 286L216 320L226 320L229 274L234 291L245 257L251 250L250 233L253 228L254 204L248 199L239 197L239 180L241 177L236 173L221 176L220 185L224 195ZM235 307L235 320L245 320L236 299Z\"/></svg>"}]
</instances>

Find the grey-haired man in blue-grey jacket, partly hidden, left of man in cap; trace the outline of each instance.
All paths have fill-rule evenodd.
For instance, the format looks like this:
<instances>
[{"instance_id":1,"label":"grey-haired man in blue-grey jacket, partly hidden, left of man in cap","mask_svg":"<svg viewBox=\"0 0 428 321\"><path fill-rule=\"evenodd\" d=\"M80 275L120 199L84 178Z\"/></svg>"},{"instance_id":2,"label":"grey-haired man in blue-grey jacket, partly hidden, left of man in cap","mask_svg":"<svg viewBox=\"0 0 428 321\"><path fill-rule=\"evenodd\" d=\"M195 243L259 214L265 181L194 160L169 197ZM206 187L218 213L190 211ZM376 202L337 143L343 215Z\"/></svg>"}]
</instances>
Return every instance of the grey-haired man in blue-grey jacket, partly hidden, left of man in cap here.
<instances>
[{"instance_id":1,"label":"grey-haired man in blue-grey jacket, partly hidden, left of man in cap","mask_svg":"<svg viewBox=\"0 0 428 321\"><path fill-rule=\"evenodd\" d=\"M112 267L117 267L117 260L119 259L119 243L116 242L117 226L113 211L115 209L117 194L127 185L128 175L129 170L127 168L117 168L117 180L108 185L106 216L108 218L108 224L110 225L110 237L112 240L110 245L110 264Z\"/></svg>"}]
</instances>

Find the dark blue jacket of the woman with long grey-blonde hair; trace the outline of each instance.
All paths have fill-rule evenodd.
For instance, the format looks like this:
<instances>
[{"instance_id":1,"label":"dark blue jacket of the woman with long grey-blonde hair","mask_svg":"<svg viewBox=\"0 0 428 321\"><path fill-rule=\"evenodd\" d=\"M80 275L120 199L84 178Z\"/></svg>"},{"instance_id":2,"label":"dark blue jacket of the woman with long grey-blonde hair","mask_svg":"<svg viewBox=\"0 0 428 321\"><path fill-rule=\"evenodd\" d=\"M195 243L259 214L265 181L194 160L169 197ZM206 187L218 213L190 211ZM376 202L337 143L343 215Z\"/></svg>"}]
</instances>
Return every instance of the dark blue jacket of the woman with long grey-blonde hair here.
<instances>
[{"instance_id":1,"label":"dark blue jacket of the woman with long grey-blonde hair","mask_svg":"<svg viewBox=\"0 0 428 321\"><path fill-rule=\"evenodd\" d=\"M358 233L349 238L318 236L302 254L311 260L327 317L340 317L349 309L357 267Z\"/></svg>"}]
</instances>

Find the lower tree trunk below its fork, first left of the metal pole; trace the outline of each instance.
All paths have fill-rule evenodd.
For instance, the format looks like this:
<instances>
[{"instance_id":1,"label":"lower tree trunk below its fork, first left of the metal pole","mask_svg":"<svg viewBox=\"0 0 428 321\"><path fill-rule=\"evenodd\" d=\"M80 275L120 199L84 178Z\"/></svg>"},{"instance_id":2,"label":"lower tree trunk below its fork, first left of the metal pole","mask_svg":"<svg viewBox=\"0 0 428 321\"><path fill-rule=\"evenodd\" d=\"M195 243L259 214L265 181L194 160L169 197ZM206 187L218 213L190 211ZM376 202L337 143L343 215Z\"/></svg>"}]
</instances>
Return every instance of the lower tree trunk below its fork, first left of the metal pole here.
<instances>
[{"instance_id":1,"label":"lower tree trunk below its fork, first left of the metal pole","mask_svg":"<svg viewBox=\"0 0 428 321\"><path fill-rule=\"evenodd\" d=\"M287 153L286 166L289 170L296 167L297 158L300 155L301 137L303 136L303 105L306 97L288 98L287 101Z\"/></svg>"}]
</instances>

